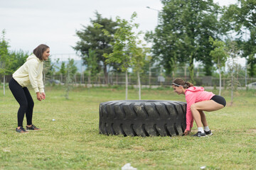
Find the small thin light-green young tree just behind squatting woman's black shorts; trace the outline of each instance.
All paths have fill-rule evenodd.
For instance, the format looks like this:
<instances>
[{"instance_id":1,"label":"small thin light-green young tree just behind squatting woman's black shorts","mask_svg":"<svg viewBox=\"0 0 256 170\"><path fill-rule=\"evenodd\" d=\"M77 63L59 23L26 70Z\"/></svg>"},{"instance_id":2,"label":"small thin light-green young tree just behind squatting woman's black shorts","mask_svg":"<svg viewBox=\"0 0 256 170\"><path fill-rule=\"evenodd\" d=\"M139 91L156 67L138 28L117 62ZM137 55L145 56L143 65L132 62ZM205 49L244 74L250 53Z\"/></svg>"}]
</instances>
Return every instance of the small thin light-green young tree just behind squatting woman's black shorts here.
<instances>
[{"instance_id":1,"label":"small thin light-green young tree just behind squatting woman's black shorts","mask_svg":"<svg viewBox=\"0 0 256 170\"><path fill-rule=\"evenodd\" d=\"M209 42L213 45L214 50L210 52L210 56L213 57L213 61L217 64L218 72L220 74L220 91L219 96L221 95L221 68L225 66L227 61L228 54L225 51L225 42L221 40L213 40L212 37L209 38Z\"/></svg>"}]
</instances>

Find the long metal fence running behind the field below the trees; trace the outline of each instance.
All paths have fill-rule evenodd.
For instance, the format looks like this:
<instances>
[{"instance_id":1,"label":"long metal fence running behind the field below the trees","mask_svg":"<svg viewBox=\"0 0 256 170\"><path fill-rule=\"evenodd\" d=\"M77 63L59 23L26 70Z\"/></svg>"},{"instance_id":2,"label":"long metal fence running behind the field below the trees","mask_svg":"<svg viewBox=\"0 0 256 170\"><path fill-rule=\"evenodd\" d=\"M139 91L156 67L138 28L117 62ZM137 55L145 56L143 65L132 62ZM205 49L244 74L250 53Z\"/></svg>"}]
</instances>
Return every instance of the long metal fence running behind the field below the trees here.
<instances>
[{"instance_id":1,"label":"long metal fence running behind the field below the trees","mask_svg":"<svg viewBox=\"0 0 256 170\"><path fill-rule=\"evenodd\" d=\"M74 84L106 84L105 77L102 75L90 77L90 81L88 77L81 74L76 74L73 78ZM161 76L151 76L146 74L142 74L140 77L141 84L146 86L170 86L171 82L176 77L161 77ZM185 81L189 81L189 77L179 77ZM0 75L1 82L3 82L3 76ZM11 79L11 75L6 76L6 82L9 82ZM61 83L65 83L65 76L54 75L54 76L46 76L45 84L49 84L51 79L55 79L60 81ZM219 86L219 79L215 77L195 77L195 85L196 86ZM125 74L109 74L107 77L108 84L110 85L124 85L125 84ZM221 79L222 86L229 86L231 79L223 78ZM239 86L245 86L246 84L250 84L256 81L256 78L236 78L235 81L239 82ZM129 74L128 75L129 85L137 85L137 75Z\"/></svg>"}]
</instances>

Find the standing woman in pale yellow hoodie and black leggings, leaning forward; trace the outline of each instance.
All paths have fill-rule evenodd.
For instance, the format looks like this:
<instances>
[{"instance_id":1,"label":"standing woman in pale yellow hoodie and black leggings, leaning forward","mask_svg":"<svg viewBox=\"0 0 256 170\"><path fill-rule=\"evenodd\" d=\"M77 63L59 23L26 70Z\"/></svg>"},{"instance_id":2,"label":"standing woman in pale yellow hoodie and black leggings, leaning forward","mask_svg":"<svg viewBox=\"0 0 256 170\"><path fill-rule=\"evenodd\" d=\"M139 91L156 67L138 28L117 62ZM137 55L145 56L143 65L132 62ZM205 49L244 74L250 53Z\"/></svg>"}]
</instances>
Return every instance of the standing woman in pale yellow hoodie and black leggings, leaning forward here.
<instances>
[{"instance_id":1,"label":"standing woman in pale yellow hoodie and black leggings, leaning forward","mask_svg":"<svg viewBox=\"0 0 256 170\"><path fill-rule=\"evenodd\" d=\"M20 105L18 108L18 128L16 128L16 132L40 130L32 123L34 103L27 86L32 86L38 101L42 101L46 98L43 89L43 61L48 60L49 56L50 47L43 44L38 45L38 47L33 50L33 54L27 58L26 62L14 72L9 81L11 93ZM26 130L23 128L23 118L25 113L27 120Z\"/></svg>"}]
</instances>

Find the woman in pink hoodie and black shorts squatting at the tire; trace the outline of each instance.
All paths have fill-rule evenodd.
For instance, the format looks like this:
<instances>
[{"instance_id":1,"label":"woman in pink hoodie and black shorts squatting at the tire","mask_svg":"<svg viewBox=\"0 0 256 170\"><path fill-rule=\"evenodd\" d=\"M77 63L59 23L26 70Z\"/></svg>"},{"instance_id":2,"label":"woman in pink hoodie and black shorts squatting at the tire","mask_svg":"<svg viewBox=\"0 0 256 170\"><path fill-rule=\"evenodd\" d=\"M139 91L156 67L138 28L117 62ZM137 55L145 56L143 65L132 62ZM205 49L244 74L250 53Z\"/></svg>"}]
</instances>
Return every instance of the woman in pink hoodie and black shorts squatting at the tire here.
<instances>
[{"instance_id":1,"label":"woman in pink hoodie and black shorts squatting at the tire","mask_svg":"<svg viewBox=\"0 0 256 170\"><path fill-rule=\"evenodd\" d=\"M196 121L198 132L196 137L204 137L213 135L210 131L206 115L203 111L217 111L224 108L226 105L225 98L213 94L212 92L204 91L201 86L193 86L193 84L183 81L183 79L175 79L172 87L177 94L185 94L187 109L186 109L186 130L184 135L188 135L193 127L193 119Z\"/></svg>"}]
</instances>

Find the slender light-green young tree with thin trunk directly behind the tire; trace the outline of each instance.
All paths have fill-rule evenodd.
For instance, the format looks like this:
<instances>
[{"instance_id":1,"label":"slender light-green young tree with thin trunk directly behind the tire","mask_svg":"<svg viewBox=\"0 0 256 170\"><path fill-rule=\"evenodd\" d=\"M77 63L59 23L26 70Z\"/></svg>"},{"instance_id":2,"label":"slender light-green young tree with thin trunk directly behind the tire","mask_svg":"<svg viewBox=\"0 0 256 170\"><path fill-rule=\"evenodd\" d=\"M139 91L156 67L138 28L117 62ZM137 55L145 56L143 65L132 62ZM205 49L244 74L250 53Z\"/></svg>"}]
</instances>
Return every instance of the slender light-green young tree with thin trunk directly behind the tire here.
<instances>
[{"instance_id":1,"label":"slender light-green young tree with thin trunk directly behind the tire","mask_svg":"<svg viewBox=\"0 0 256 170\"><path fill-rule=\"evenodd\" d=\"M122 72L125 72L125 99L128 98L128 68L132 67L132 63L136 60L133 56L137 52L137 38L138 35L132 31L133 28L138 28L139 25L134 23L134 18L137 13L132 13L129 21L119 18L117 16L118 28L114 33L113 52L110 54L105 53L107 62L116 62L120 64ZM110 33L103 30L105 35Z\"/></svg>"}]
</instances>

